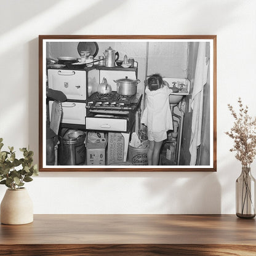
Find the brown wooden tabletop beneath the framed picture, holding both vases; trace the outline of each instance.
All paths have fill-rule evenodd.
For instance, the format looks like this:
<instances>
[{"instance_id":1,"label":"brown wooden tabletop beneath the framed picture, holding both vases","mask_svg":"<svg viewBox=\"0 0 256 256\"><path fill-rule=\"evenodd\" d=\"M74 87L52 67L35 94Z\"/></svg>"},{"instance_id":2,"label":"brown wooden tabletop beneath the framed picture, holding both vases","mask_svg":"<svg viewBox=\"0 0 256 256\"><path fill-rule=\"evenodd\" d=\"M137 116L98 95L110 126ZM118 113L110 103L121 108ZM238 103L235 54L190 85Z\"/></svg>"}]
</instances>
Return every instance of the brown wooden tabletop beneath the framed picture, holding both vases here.
<instances>
[{"instance_id":1,"label":"brown wooden tabletop beneath the framed picture, holding both vases","mask_svg":"<svg viewBox=\"0 0 256 256\"><path fill-rule=\"evenodd\" d=\"M235 215L34 215L0 226L0 255L256 255L255 219Z\"/></svg>"}]
</instances>

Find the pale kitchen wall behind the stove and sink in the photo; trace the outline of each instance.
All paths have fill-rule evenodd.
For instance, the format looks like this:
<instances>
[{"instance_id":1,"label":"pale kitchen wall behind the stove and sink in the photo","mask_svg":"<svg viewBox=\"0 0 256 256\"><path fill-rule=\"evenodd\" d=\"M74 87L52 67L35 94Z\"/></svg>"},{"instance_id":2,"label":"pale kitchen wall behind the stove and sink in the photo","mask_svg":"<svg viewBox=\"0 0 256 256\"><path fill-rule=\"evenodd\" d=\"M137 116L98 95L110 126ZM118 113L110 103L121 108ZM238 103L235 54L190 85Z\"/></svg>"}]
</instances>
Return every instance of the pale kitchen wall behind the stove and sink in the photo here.
<instances>
[{"instance_id":1,"label":"pale kitchen wall behind the stove and sink in the photo","mask_svg":"<svg viewBox=\"0 0 256 256\"><path fill-rule=\"evenodd\" d=\"M145 76L161 73L162 76L174 78L187 77L188 43L187 42L150 42L148 47L148 69L146 70L146 42L97 42L98 56L103 55L108 47L119 53L119 60L124 60L124 55L134 58L138 62L138 92L144 93ZM49 42L47 43L47 58L68 56L79 58L78 42ZM119 77L116 79L120 79ZM142 103L143 106L143 103Z\"/></svg>"}]
</instances>

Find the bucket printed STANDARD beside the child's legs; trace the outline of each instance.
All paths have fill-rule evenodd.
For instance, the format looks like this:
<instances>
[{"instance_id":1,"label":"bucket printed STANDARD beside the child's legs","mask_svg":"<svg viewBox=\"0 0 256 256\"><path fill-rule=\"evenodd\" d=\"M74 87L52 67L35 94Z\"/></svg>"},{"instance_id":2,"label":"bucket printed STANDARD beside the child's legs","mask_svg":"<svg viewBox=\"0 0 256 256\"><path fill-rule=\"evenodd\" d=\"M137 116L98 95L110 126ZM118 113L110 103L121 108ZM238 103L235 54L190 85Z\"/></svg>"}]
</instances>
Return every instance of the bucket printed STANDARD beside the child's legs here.
<instances>
[{"instance_id":1,"label":"bucket printed STANDARD beside the child's legs","mask_svg":"<svg viewBox=\"0 0 256 256\"><path fill-rule=\"evenodd\" d=\"M148 148L135 148L134 146L129 145L128 158L133 166L147 166Z\"/></svg>"}]
</instances>

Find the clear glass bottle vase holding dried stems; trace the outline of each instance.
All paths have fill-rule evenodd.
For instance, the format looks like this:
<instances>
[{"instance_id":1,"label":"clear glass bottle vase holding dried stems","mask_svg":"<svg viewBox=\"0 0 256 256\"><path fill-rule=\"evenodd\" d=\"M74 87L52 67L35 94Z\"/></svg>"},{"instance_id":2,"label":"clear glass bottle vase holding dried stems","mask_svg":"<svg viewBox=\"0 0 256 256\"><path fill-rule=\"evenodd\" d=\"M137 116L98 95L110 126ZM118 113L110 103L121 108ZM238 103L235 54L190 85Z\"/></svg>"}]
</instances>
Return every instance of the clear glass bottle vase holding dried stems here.
<instances>
[{"instance_id":1,"label":"clear glass bottle vase holding dried stems","mask_svg":"<svg viewBox=\"0 0 256 256\"><path fill-rule=\"evenodd\" d=\"M242 167L241 175L236 180L236 216L255 217L255 178L250 173L250 167Z\"/></svg>"}]
</instances>

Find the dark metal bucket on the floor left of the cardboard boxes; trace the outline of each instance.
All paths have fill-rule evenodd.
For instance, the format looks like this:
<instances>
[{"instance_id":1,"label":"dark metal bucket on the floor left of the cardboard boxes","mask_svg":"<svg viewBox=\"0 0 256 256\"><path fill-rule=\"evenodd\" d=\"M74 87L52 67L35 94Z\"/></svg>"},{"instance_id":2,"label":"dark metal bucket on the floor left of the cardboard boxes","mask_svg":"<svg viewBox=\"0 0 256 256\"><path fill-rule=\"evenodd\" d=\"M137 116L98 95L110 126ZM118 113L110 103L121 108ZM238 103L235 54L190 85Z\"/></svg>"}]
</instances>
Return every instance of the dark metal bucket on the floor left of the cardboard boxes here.
<instances>
[{"instance_id":1,"label":"dark metal bucket on the floor left of the cardboard boxes","mask_svg":"<svg viewBox=\"0 0 256 256\"><path fill-rule=\"evenodd\" d=\"M60 166L78 166L86 162L86 135L81 130L67 130L60 136L58 146L58 164Z\"/></svg>"}]
</instances>

